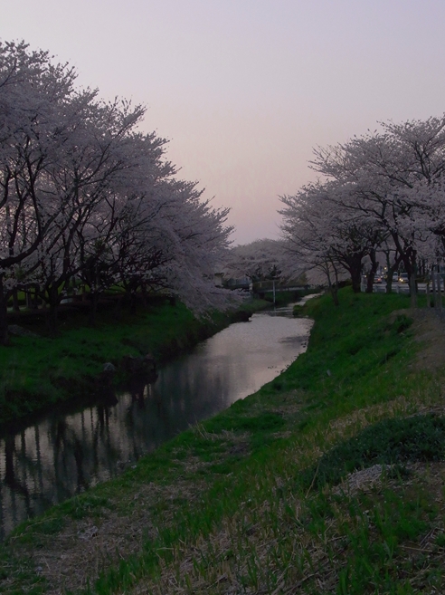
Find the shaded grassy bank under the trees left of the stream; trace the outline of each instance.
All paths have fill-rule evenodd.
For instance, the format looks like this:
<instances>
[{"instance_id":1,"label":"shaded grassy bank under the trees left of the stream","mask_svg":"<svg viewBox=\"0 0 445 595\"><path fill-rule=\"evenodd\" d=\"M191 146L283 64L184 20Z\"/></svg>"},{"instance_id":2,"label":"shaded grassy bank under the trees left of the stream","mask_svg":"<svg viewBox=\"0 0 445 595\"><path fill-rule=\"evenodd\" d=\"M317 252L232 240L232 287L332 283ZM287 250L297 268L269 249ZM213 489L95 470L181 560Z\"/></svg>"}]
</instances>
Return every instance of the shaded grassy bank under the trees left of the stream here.
<instances>
[{"instance_id":1,"label":"shaded grassy bank under the trees left of the stream","mask_svg":"<svg viewBox=\"0 0 445 595\"><path fill-rule=\"evenodd\" d=\"M214 312L201 321L179 302L158 302L137 312L104 308L94 326L88 311L71 309L55 337L48 336L43 318L24 314L18 321L35 336L13 336L10 346L0 347L0 424L70 398L97 398L105 362L117 367L118 384L124 378L119 369L124 357L151 353L162 363L237 320L240 312L267 305L245 302L236 312Z\"/></svg>"}]
</instances>

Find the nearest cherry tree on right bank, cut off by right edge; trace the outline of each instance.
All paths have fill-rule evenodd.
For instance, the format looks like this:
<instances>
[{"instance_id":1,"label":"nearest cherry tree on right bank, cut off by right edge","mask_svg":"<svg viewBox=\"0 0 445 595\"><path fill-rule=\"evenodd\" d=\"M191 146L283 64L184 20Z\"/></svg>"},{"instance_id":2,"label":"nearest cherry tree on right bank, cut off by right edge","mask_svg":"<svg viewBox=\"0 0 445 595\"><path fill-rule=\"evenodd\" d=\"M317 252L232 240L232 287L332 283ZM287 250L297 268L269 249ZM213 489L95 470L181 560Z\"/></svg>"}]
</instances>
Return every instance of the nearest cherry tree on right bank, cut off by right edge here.
<instances>
[{"instance_id":1,"label":"nearest cherry tree on right bank, cut off by right edge","mask_svg":"<svg viewBox=\"0 0 445 595\"><path fill-rule=\"evenodd\" d=\"M374 218L383 237L391 237L410 275L413 305L417 261L431 244L425 221L443 174L444 127L444 118L383 123L382 132L317 149L312 163L317 172L351 188L354 200L346 210Z\"/></svg>"}]
</instances>

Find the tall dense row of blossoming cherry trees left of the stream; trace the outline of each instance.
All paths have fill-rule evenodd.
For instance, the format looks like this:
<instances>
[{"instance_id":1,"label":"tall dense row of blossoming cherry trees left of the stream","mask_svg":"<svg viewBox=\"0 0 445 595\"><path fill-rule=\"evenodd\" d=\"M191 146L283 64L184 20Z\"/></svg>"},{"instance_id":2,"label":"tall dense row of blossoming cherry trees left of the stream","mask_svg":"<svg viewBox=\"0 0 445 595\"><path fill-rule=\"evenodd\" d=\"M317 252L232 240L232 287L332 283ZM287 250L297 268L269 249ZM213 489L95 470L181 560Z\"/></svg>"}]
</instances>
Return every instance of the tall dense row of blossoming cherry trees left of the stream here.
<instances>
[{"instance_id":1,"label":"tall dense row of blossoming cherry trees left of the stream","mask_svg":"<svg viewBox=\"0 0 445 595\"><path fill-rule=\"evenodd\" d=\"M213 271L228 209L176 178L166 140L138 127L142 106L99 101L76 73L25 43L0 43L0 342L17 288L53 317L76 280L91 298L167 288L195 312L221 306Z\"/></svg>"}]
</instances>

